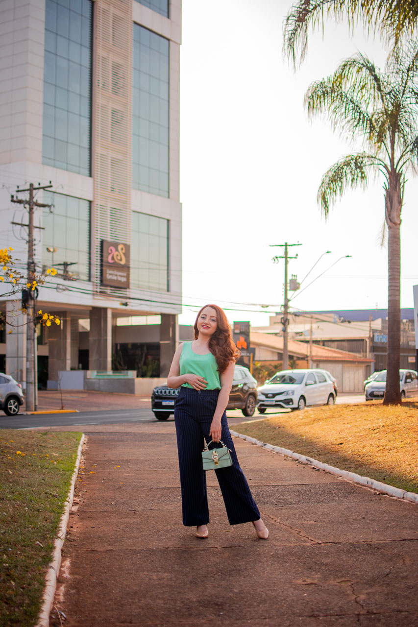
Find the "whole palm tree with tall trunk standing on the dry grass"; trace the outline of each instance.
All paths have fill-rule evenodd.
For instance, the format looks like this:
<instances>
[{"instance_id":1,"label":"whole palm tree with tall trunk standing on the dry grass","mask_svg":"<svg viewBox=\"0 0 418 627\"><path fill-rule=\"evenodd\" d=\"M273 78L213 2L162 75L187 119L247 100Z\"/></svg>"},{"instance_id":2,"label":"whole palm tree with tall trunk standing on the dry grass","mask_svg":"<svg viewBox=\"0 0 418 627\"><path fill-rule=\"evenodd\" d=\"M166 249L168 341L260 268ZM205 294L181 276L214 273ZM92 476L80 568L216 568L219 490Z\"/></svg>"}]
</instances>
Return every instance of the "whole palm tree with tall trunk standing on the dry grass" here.
<instances>
[{"instance_id":1,"label":"whole palm tree with tall trunk standing on the dry grass","mask_svg":"<svg viewBox=\"0 0 418 627\"><path fill-rule=\"evenodd\" d=\"M388 341L384 404L401 402L400 366L400 214L405 175L418 164L418 44L399 46L380 71L358 54L335 73L314 82L305 95L310 117L326 113L347 139L360 139L363 152L349 154L323 176L318 203L327 217L330 204L347 188L367 187L370 174L383 175L388 230Z\"/></svg>"}]
</instances>

